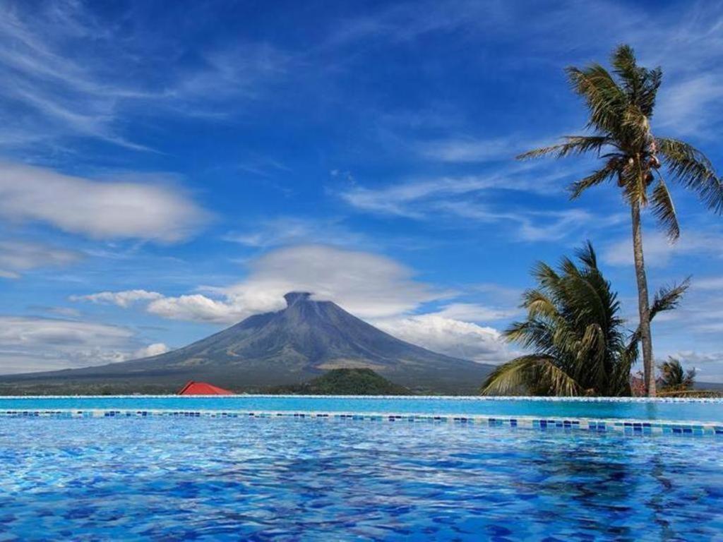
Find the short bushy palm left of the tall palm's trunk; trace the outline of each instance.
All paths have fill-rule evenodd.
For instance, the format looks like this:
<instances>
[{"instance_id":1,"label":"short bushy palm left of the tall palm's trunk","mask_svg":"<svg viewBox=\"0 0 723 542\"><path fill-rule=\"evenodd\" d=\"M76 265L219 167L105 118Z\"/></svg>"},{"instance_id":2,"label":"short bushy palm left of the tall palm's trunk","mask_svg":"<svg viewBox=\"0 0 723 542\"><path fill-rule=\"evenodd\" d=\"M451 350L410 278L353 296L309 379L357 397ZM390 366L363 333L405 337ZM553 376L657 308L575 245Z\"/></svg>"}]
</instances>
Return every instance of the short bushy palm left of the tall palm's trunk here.
<instances>
[{"instance_id":1,"label":"short bushy palm left of the tall palm's trunk","mask_svg":"<svg viewBox=\"0 0 723 542\"><path fill-rule=\"evenodd\" d=\"M537 288L523 294L527 318L505 336L531 353L497 368L482 384L484 395L630 395L630 367L638 358L639 332L629 333L617 293L597 267L590 243L577 253L580 265L562 259L555 271L539 262ZM651 316L674 309L688 282L663 288Z\"/></svg>"}]
</instances>

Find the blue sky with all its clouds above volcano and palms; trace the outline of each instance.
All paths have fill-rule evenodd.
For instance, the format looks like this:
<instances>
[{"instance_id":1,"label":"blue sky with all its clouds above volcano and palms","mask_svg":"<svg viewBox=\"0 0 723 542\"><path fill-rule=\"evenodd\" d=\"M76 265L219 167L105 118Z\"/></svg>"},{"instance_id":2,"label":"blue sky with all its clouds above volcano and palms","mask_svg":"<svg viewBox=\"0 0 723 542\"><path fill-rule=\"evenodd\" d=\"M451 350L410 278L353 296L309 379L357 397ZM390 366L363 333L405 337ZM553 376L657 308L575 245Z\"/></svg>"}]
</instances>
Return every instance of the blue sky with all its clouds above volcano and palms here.
<instances>
[{"instance_id":1,"label":"blue sky with all its clouds above volcano and palms","mask_svg":"<svg viewBox=\"0 0 723 542\"><path fill-rule=\"evenodd\" d=\"M192 343L312 291L382 330L502 363L529 272L590 240L636 324L616 186L565 66L662 66L654 134L723 170L718 2L0 1L0 373ZM643 215L659 361L723 382L723 218Z\"/></svg>"}]
</instances>

